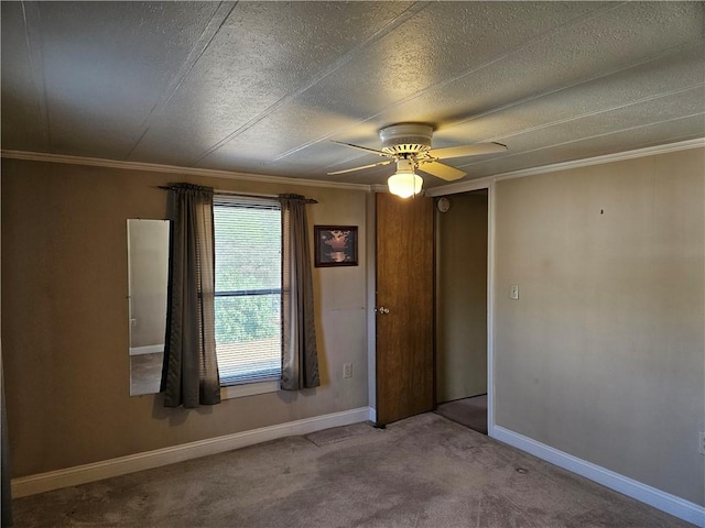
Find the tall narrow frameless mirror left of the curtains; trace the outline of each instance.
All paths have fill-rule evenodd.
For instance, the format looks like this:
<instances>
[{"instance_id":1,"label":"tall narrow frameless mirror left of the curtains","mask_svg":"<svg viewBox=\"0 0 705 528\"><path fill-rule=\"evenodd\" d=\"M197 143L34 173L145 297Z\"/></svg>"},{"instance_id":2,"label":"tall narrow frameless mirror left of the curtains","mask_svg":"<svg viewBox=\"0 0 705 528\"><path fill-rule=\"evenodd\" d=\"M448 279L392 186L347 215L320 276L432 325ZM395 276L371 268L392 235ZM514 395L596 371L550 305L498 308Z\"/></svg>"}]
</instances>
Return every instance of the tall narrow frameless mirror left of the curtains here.
<instances>
[{"instance_id":1,"label":"tall narrow frameless mirror left of the curtains","mask_svg":"<svg viewBox=\"0 0 705 528\"><path fill-rule=\"evenodd\" d=\"M164 359L169 220L128 219L130 395L159 393Z\"/></svg>"}]
</instances>

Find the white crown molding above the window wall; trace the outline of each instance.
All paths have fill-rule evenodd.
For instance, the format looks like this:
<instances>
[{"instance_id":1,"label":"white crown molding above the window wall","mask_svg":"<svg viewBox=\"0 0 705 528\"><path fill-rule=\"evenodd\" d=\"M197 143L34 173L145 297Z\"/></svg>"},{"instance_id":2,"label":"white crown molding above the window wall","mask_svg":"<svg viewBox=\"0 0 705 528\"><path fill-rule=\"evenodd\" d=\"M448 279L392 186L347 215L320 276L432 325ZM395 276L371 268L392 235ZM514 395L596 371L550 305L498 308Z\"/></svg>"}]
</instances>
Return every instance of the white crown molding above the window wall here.
<instances>
[{"instance_id":1,"label":"white crown molding above the window wall","mask_svg":"<svg viewBox=\"0 0 705 528\"><path fill-rule=\"evenodd\" d=\"M206 176L212 178L237 179L268 184L293 184L307 187L330 187L336 189L365 190L368 193L371 191L371 186L365 184L345 184L340 182L324 182L319 179L303 179L284 176L234 173L230 170L217 170L213 168L180 167L176 165L102 160L99 157L66 156L62 154L50 154L44 152L2 150L0 151L0 155L9 160L23 160L30 162L65 163L69 165L88 165L93 167L120 168L126 170L149 170L153 173L182 174L186 176Z\"/></svg>"}]
</instances>

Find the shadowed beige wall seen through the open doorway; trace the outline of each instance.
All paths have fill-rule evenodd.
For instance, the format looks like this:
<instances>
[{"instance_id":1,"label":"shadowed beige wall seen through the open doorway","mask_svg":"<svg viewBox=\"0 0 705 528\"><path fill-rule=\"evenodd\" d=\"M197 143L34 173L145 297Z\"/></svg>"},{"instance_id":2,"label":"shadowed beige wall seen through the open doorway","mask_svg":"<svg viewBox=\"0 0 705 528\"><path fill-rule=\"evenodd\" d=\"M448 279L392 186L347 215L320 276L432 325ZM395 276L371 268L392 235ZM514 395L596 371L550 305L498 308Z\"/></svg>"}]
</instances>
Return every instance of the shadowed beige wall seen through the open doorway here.
<instances>
[{"instance_id":1,"label":"shadowed beige wall seen through the open doorway","mask_svg":"<svg viewBox=\"0 0 705 528\"><path fill-rule=\"evenodd\" d=\"M436 402L487 393L487 190L436 212Z\"/></svg>"}]
</instances>

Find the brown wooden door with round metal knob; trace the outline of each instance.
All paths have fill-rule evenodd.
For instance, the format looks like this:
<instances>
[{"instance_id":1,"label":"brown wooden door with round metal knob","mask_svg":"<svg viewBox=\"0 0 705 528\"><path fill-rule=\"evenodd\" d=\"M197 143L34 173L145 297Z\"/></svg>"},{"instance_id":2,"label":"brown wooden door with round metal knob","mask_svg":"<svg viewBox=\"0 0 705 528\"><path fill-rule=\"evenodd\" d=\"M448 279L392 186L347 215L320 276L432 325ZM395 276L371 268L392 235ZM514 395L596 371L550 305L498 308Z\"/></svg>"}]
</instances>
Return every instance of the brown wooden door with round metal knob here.
<instances>
[{"instance_id":1,"label":"brown wooden door with round metal knob","mask_svg":"<svg viewBox=\"0 0 705 528\"><path fill-rule=\"evenodd\" d=\"M434 406L433 199L377 195L377 424Z\"/></svg>"}]
</instances>

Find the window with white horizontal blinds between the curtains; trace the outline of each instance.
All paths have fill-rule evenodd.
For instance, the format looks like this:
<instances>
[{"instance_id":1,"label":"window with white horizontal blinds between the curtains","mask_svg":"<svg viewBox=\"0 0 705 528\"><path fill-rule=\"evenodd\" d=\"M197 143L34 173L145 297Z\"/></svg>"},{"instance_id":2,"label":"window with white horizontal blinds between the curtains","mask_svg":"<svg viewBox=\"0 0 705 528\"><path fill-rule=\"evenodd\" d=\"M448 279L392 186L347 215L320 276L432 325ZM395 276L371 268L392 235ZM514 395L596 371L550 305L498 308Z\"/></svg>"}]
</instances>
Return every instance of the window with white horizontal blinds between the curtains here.
<instances>
[{"instance_id":1,"label":"window with white horizontal blinds between the curtains","mask_svg":"<svg viewBox=\"0 0 705 528\"><path fill-rule=\"evenodd\" d=\"M281 375L281 206L214 197L216 353L220 385Z\"/></svg>"}]
</instances>

